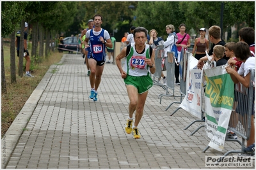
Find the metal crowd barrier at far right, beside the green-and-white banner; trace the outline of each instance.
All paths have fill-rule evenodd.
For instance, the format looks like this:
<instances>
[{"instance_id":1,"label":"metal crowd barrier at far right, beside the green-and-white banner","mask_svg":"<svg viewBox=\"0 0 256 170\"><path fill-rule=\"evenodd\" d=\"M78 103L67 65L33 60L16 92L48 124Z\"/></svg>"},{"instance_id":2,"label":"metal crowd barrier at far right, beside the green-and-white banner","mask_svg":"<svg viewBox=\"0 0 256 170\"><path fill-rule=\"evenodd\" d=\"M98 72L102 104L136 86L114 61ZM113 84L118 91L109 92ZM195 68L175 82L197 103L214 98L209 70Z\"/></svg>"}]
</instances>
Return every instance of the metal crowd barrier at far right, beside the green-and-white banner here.
<instances>
[{"instance_id":1,"label":"metal crowd barrier at far right, beside the green-and-white banner","mask_svg":"<svg viewBox=\"0 0 256 170\"><path fill-rule=\"evenodd\" d=\"M228 124L228 129L235 132L237 136L241 136L242 141L239 141L238 139L228 139L227 135L225 138L225 141L236 141L239 143L241 145L241 150L230 150L226 152L223 157L229 155L230 153L245 153L243 151L244 143L245 140L250 138L250 131L252 128L251 121L253 121L255 104L255 69L250 69L250 73L250 86L248 88L244 87L241 83L237 83L235 85L233 110ZM207 146L203 152L205 152L208 148L209 146Z\"/></svg>"}]
</instances>

